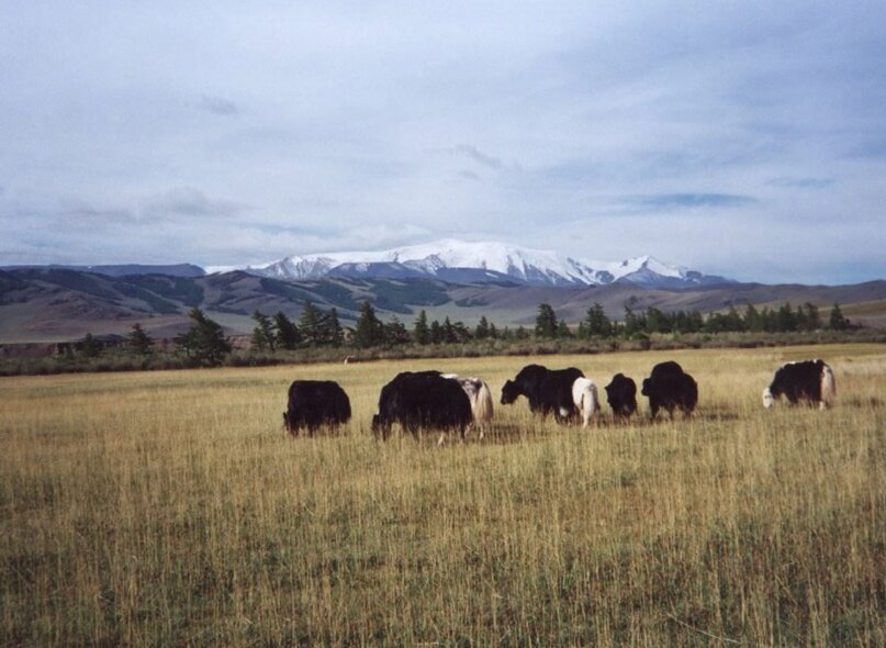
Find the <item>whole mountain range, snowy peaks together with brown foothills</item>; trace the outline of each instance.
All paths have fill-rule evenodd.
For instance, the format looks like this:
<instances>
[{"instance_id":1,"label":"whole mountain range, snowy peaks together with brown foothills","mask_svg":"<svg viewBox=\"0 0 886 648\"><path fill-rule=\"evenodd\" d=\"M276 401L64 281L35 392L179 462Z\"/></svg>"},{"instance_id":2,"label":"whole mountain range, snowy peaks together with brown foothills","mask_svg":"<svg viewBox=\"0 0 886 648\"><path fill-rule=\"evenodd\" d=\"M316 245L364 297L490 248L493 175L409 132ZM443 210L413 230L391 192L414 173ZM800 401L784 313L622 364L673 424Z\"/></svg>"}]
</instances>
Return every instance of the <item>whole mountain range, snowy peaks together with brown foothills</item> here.
<instances>
[{"instance_id":1,"label":"whole mountain range, snowy peaks together with brown foothills","mask_svg":"<svg viewBox=\"0 0 886 648\"><path fill-rule=\"evenodd\" d=\"M599 303L625 309L708 313L747 304L839 303L862 324L886 326L886 281L850 286L739 283L642 256L576 260L501 243L440 241L371 253L290 256L254 267L42 266L0 268L0 344L125 334L141 323L157 338L187 329L199 306L231 334L248 334L255 311L298 319L306 301L337 309L352 324L369 300L382 319L411 322L419 310L473 325L531 325L537 306L580 321ZM857 314L857 315L856 315ZM0 353L2 349L0 348Z\"/></svg>"}]
</instances>

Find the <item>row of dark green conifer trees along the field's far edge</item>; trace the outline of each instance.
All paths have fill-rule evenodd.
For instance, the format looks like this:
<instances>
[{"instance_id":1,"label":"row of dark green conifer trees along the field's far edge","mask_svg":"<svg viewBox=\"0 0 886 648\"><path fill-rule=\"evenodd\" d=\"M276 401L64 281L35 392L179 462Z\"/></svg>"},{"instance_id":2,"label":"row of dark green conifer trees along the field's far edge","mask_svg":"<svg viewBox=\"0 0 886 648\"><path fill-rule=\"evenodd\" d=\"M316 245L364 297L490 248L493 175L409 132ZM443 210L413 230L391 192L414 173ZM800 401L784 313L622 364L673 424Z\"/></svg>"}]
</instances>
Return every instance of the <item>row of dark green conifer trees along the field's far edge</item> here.
<instances>
[{"instance_id":1,"label":"row of dark green conifer trees along the field's far edge","mask_svg":"<svg viewBox=\"0 0 886 648\"><path fill-rule=\"evenodd\" d=\"M188 316L192 322L191 327L172 339L176 350L193 365L221 365L233 350L231 339L224 335L223 327L197 306L191 309ZM368 300L360 305L359 315L352 327L341 325L335 308L324 311L310 301L303 304L296 321L292 321L282 311L268 315L256 310L251 319L255 327L250 347L266 353L319 347L369 349L408 344L446 345L495 339L505 342L530 338L630 339L653 334L794 333L846 331L852 327L850 321L843 316L839 304L833 304L825 317L816 305L808 302L797 308L786 302L778 309L762 310L748 305L743 312L732 306L726 312L709 313L707 316L699 311L664 312L657 308L648 308L635 312L626 306L620 321L612 320L601 304L594 303L587 309L577 326L570 326L557 315L550 304L541 303L538 305L535 327L531 331L524 326L500 328L489 322L485 315L480 317L474 327L469 327L460 321L452 322L448 316L440 322L429 320L424 310L407 327L396 316L388 321L380 320ZM155 340L141 324L135 324L126 344L134 353L147 356L153 353ZM87 334L85 355L93 354L98 354L98 349L92 344L92 336Z\"/></svg>"}]
</instances>

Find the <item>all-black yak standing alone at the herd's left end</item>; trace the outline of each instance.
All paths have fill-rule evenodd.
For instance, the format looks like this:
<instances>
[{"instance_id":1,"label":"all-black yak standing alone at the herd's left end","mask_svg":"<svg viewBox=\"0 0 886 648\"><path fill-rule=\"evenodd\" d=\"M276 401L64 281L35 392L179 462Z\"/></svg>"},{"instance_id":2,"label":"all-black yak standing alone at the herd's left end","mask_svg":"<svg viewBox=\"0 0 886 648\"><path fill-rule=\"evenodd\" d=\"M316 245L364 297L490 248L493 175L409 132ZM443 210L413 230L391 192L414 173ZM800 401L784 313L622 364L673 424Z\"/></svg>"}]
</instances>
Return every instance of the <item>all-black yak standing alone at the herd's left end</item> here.
<instances>
[{"instance_id":1,"label":"all-black yak standing alone at the herd's left end","mask_svg":"<svg viewBox=\"0 0 886 648\"><path fill-rule=\"evenodd\" d=\"M298 436L301 429L313 435L321 427L337 428L350 420L350 400L332 380L295 380L289 386L283 426Z\"/></svg>"}]
</instances>

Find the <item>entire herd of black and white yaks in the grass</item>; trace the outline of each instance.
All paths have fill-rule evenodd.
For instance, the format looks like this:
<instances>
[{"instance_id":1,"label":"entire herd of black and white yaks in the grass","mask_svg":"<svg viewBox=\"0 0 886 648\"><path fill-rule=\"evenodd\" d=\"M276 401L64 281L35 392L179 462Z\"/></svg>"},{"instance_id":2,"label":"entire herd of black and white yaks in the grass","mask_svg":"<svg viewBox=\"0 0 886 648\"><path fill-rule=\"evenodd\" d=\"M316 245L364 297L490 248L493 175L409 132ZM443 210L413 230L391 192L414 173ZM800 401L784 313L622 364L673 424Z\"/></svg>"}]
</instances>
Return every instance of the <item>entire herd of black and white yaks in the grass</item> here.
<instances>
[{"instance_id":1,"label":"entire herd of black and white yaks in the grass","mask_svg":"<svg viewBox=\"0 0 886 648\"><path fill-rule=\"evenodd\" d=\"M627 421L637 412L637 384L631 378L617 373L605 390L616 420ZM698 403L698 384L677 362L660 362L643 380L641 394L649 399L652 418L660 410L672 417L674 411L689 415ZM823 410L835 394L833 371L822 360L787 362L775 371L772 383L763 390L763 405L771 407L784 395L790 404L805 403ZM526 398L534 413L553 415L558 423L581 422L586 427L601 411L596 384L574 367L524 367L505 382L501 403L514 403L519 396ZM384 439L396 424L416 436L422 429L435 429L444 434L458 432L463 438L469 427L476 425L482 436L492 414L492 391L480 378L404 371L382 388L372 431ZM337 382L296 380L289 388L283 424L293 436L301 431L314 434L321 428L336 428L350 416L350 400Z\"/></svg>"}]
</instances>

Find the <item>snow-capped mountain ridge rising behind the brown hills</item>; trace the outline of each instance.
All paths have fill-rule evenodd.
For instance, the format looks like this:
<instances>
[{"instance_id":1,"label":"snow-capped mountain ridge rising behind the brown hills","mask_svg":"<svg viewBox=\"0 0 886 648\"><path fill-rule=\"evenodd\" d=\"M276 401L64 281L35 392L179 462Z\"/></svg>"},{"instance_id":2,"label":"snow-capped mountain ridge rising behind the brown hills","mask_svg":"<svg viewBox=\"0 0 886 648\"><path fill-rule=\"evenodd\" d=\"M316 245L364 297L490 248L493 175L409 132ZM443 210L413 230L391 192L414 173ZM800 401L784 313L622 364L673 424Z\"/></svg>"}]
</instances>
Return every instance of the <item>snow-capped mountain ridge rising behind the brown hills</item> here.
<instances>
[{"instance_id":1,"label":"snow-capped mountain ridge rising behind the brown hills","mask_svg":"<svg viewBox=\"0 0 886 648\"><path fill-rule=\"evenodd\" d=\"M295 255L247 272L292 281L324 277L440 279L453 283L505 281L527 286L601 286L615 281L652 288L731 283L724 277L669 266L649 256L624 261L579 260L551 250L504 243L445 239L383 252Z\"/></svg>"}]
</instances>

